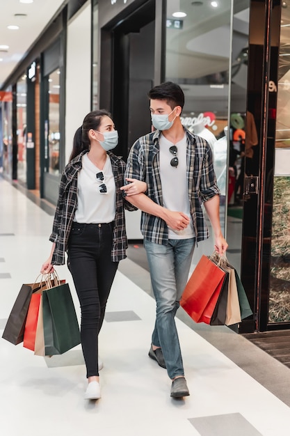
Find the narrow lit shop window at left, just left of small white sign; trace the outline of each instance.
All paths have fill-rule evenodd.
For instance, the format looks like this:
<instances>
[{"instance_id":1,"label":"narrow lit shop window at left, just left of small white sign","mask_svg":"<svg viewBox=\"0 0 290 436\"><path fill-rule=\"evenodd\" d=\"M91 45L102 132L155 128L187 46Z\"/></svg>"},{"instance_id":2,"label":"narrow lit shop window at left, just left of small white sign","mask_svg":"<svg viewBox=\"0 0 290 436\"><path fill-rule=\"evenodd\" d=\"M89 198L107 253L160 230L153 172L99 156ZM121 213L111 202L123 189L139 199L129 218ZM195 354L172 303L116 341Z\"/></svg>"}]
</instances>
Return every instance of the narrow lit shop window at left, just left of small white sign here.
<instances>
[{"instance_id":1,"label":"narrow lit shop window at left, just left of small white sign","mask_svg":"<svg viewBox=\"0 0 290 436\"><path fill-rule=\"evenodd\" d=\"M17 81L17 178L26 183L26 75Z\"/></svg>"}]
</instances>

